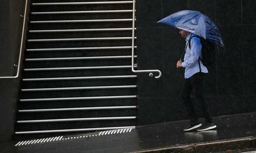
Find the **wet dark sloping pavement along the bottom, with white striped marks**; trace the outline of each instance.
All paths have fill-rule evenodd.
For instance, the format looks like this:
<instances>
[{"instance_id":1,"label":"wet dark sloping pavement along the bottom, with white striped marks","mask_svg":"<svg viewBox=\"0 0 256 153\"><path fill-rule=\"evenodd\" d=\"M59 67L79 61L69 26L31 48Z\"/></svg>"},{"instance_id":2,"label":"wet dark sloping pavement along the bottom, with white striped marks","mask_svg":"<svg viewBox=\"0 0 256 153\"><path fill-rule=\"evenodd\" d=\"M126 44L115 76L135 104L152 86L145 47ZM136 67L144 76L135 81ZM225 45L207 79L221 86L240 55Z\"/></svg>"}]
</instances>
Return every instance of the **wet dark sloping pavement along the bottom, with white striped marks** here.
<instances>
[{"instance_id":1,"label":"wet dark sloping pavement along the bottom, with white striped marks","mask_svg":"<svg viewBox=\"0 0 256 153\"><path fill-rule=\"evenodd\" d=\"M242 150L256 148L256 113L214 117L214 122L218 128L202 132L184 133L182 129L189 122L181 120L136 129L13 141L1 143L0 152L246 152Z\"/></svg>"}]
</instances>

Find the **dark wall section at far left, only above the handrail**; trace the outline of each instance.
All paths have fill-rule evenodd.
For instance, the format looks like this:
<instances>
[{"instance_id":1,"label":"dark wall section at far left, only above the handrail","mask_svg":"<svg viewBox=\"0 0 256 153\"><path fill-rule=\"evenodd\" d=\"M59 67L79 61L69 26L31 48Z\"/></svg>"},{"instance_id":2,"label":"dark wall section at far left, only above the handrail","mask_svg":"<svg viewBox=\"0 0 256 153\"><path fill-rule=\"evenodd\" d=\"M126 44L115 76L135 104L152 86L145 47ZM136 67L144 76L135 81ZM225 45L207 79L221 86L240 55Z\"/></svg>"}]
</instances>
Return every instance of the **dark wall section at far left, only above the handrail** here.
<instances>
[{"instance_id":1,"label":"dark wall section at far left, only above the handrail","mask_svg":"<svg viewBox=\"0 0 256 153\"><path fill-rule=\"evenodd\" d=\"M16 73L22 27L22 1L3 0L0 9L0 77Z\"/></svg>"}]
</instances>

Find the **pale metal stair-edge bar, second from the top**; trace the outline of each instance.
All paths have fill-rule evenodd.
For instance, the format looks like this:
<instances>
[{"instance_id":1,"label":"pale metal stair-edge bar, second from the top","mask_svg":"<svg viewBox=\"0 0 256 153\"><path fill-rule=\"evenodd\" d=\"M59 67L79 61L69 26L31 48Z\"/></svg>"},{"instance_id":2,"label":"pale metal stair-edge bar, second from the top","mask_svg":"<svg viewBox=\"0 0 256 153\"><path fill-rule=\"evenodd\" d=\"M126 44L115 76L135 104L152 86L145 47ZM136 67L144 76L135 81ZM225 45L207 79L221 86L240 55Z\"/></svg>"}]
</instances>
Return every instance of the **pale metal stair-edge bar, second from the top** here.
<instances>
[{"instance_id":1,"label":"pale metal stair-edge bar, second from the top","mask_svg":"<svg viewBox=\"0 0 256 153\"><path fill-rule=\"evenodd\" d=\"M98 10L98 11L40 11L31 12L33 15L45 15L45 14L81 14L81 13L129 13L132 10Z\"/></svg>"}]
</instances>

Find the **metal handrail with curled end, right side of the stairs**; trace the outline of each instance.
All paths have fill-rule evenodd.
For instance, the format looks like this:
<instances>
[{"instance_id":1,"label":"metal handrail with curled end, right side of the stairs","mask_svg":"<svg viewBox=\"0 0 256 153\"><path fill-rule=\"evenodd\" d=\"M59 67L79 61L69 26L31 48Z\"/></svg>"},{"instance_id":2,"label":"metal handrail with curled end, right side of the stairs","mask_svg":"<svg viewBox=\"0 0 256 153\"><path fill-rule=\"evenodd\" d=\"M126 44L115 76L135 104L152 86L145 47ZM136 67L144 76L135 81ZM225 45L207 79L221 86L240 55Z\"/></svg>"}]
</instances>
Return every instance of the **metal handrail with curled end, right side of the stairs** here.
<instances>
[{"instance_id":1,"label":"metal handrail with curled end, right side of the stairs","mask_svg":"<svg viewBox=\"0 0 256 153\"><path fill-rule=\"evenodd\" d=\"M162 73L159 69L147 69L147 70L134 70L134 25L135 25L135 1L133 0L133 10L132 10L132 72L134 73L145 73L149 72L149 77L153 77L153 72L159 73L155 78L160 78Z\"/></svg>"}]
</instances>

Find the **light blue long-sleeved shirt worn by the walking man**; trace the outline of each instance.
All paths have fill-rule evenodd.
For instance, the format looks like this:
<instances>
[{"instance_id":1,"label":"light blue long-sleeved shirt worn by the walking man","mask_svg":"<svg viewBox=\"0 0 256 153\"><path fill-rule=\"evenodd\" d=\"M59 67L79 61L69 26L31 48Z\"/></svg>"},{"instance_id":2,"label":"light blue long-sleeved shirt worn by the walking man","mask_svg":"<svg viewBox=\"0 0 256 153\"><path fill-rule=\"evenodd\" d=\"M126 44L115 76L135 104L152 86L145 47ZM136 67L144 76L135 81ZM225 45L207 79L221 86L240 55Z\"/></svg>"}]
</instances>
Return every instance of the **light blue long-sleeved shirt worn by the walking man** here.
<instances>
[{"instance_id":1,"label":"light blue long-sleeved shirt worn by the walking man","mask_svg":"<svg viewBox=\"0 0 256 153\"><path fill-rule=\"evenodd\" d=\"M190 36L191 34L189 34L186 38L186 45L188 44ZM196 35L193 34L192 36L196 36ZM189 45L186 48L186 53L184 55L184 62L182 62L182 67L185 68L185 73L184 73L185 78L190 78L193 75L195 75L195 73L200 72L198 60L199 60L199 57L201 57L202 59L202 52L201 52L202 44L200 42L200 39L197 37L193 37L190 41L190 45L191 45L190 48L189 48ZM202 73L208 73L208 69L204 66L202 61L199 60L199 62L200 62Z\"/></svg>"}]
</instances>

